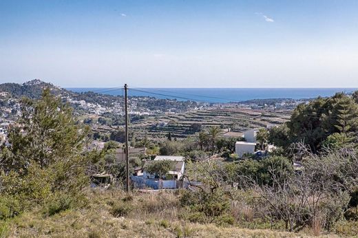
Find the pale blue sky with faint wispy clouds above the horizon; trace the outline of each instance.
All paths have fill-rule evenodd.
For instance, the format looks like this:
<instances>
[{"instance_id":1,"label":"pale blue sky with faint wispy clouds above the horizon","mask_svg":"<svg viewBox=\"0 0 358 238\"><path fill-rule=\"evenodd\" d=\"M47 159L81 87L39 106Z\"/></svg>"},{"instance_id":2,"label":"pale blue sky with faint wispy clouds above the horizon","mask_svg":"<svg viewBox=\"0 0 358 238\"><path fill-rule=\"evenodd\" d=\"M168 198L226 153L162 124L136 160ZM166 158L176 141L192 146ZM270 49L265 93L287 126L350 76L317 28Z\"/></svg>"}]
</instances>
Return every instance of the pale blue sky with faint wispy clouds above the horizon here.
<instances>
[{"instance_id":1,"label":"pale blue sky with faint wispy clouds above the horizon","mask_svg":"<svg viewBox=\"0 0 358 238\"><path fill-rule=\"evenodd\" d=\"M0 0L0 83L358 87L358 1Z\"/></svg>"}]
</instances>

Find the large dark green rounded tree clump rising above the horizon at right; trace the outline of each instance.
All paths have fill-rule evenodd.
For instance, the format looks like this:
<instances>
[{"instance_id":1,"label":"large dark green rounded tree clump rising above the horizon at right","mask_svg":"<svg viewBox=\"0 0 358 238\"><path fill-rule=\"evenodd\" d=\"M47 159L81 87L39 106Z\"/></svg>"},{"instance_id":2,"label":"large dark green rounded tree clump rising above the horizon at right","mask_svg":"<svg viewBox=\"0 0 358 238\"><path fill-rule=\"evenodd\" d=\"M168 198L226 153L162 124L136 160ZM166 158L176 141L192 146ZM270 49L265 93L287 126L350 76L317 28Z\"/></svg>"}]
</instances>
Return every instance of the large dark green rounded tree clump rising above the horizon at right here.
<instances>
[{"instance_id":1,"label":"large dark green rounded tree clump rising above the horizon at right","mask_svg":"<svg viewBox=\"0 0 358 238\"><path fill-rule=\"evenodd\" d=\"M358 129L358 105L343 93L331 98L317 98L298 105L287 122L292 142L304 142L317 152L327 136L354 132Z\"/></svg>"}]
</instances>

